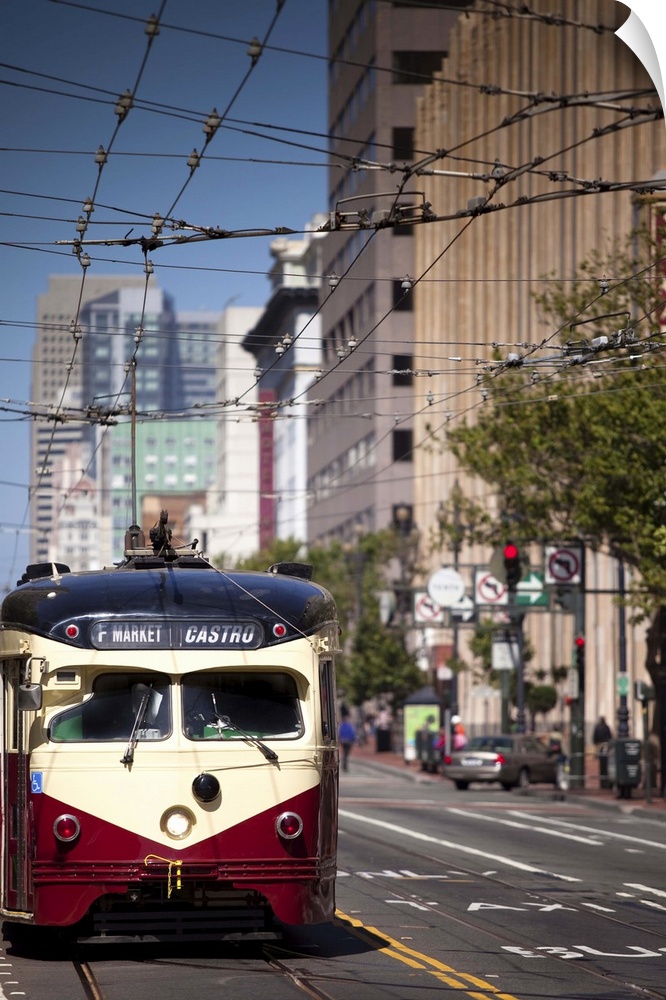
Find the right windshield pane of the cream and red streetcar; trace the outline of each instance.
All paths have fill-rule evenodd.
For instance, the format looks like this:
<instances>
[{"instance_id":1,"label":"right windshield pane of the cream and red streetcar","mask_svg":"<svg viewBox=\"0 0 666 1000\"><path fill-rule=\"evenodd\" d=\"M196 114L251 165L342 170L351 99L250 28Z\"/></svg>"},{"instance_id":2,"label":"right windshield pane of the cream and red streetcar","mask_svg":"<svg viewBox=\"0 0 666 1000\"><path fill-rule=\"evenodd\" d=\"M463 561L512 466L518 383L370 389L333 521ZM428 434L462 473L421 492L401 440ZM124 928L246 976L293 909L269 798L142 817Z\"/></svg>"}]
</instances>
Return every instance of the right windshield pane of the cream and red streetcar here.
<instances>
[{"instance_id":1,"label":"right windshield pane of the cream and red streetcar","mask_svg":"<svg viewBox=\"0 0 666 1000\"><path fill-rule=\"evenodd\" d=\"M185 735L190 739L242 740L249 734L294 740L303 732L296 681L290 674L201 671L186 674L181 683Z\"/></svg>"}]
</instances>

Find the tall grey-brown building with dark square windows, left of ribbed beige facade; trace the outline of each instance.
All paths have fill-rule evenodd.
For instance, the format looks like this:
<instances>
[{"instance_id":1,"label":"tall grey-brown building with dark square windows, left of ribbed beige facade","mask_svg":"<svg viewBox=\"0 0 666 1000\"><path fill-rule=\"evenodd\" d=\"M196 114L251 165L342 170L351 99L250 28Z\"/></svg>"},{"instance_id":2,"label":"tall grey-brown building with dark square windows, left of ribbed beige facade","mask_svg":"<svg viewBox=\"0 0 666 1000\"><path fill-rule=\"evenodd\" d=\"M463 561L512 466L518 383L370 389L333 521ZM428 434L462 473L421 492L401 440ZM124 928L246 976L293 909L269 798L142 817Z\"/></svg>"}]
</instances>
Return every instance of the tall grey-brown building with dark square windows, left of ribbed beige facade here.
<instances>
[{"instance_id":1,"label":"tall grey-brown building with dark square windows, left of ribbed beige facade","mask_svg":"<svg viewBox=\"0 0 666 1000\"><path fill-rule=\"evenodd\" d=\"M426 208L411 162L417 98L446 62L471 0L423 7L370 0L329 5L329 213L323 245L323 368L311 392L308 540L353 538L412 502L414 227ZM358 159L354 159L358 158ZM386 169L366 169L364 163ZM364 229L364 220L403 224ZM326 277L328 276L328 277Z\"/></svg>"}]
</instances>

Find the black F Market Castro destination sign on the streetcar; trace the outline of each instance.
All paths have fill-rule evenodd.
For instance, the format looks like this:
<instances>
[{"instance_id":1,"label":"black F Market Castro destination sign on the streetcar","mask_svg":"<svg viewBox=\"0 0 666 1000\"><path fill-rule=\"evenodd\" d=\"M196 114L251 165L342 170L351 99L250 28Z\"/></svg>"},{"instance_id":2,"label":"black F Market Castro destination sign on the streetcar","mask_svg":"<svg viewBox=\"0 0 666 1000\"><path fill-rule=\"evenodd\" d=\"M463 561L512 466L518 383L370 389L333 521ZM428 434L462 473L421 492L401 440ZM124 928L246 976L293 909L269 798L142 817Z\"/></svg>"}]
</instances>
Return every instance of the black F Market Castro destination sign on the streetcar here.
<instances>
[{"instance_id":1,"label":"black F Market Castro destination sign on the streetcar","mask_svg":"<svg viewBox=\"0 0 666 1000\"><path fill-rule=\"evenodd\" d=\"M90 630L95 649L259 649L257 622L106 621Z\"/></svg>"}]
</instances>

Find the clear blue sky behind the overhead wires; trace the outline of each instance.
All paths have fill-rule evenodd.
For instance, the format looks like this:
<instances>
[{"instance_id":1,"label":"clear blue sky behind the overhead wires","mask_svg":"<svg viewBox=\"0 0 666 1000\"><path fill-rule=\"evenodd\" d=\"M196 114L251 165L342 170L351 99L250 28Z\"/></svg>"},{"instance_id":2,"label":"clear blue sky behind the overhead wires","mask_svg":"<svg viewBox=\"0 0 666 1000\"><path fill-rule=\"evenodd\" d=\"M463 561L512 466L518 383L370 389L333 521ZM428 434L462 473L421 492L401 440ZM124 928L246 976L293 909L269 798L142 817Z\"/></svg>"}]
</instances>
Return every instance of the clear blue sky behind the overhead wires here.
<instances>
[{"instance_id":1,"label":"clear blue sky behind the overhead wires","mask_svg":"<svg viewBox=\"0 0 666 1000\"><path fill-rule=\"evenodd\" d=\"M55 243L76 235L76 219L98 179L94 151L108 146L116 98L125 90L136 89L138 102L152 102L153 110L135 107L119 129L89 236L117 238L130 229L137 235L137 219L164 215L188 177L190 152L202 149L204 119L230 103L225 127L173 215L231 230L298 230L327 208L327 0L285 0L244 84L248 42L265 37L275 0L167 0L146 58L143 22L162 3L4 0L0 8L2 407L25 410L30 398L32 325L48 275L81 274L71 249ZM651 34L664 75L666 4L628 5ZM632 35L640 55L640 33ZM260 306L270 292L269 242L200 243L152 258L160 286L180 310L222 309L233 296L237 304ZM137 247L89 252L98 274L142 273ZM28 442L26 418L0 410L0 592L28 558Z\"/></svg>"}]
</instances>

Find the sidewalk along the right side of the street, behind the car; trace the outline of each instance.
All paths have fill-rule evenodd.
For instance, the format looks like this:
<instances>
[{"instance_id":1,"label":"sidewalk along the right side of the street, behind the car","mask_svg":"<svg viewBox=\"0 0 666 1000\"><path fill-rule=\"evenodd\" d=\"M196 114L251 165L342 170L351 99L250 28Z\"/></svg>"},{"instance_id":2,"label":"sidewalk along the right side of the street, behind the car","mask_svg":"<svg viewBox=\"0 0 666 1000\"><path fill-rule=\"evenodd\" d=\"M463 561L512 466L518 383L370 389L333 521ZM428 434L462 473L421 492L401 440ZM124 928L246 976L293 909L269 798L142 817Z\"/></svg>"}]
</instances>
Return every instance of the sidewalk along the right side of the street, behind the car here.
<instances>
[{"instance_id":1,"label":"sidewalk along the right side of the street, behind the car","mask_svg":"<svg viewBox=\"0 0 666 1000\"><path fill-rule=\"evenodd\" d=\"M424 784L445 782L449 787L453 784L440 774L430 774L421 769L419 761L405 761L402 753L394 751L377 752L374 739L369 739L364 745L358 744L351 752L350 760L362 761L364 764L375 768L378 771L391 773L394 776L405 778L407 781L417 781ZM480 787L480 786L477 786ZM588 755L585 761L584 785L581 788L570 788L565 792L558 792L558 796L570 801L584 800L586 804L599 806L600 808L615 808L623 813L640 812L642 816L650 816L654 819L666 821L666 800L658 795L655 789L651 791L651 801L647 802L645 789L632 788L631 797L620 799L613 788L602 788L599 780L598 763L596 757ZM540 796L547 795L553 797L553 790L547 785L535 785L530 789L530 793Z\"/></svg>"}]
</instances>

